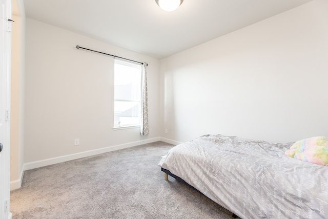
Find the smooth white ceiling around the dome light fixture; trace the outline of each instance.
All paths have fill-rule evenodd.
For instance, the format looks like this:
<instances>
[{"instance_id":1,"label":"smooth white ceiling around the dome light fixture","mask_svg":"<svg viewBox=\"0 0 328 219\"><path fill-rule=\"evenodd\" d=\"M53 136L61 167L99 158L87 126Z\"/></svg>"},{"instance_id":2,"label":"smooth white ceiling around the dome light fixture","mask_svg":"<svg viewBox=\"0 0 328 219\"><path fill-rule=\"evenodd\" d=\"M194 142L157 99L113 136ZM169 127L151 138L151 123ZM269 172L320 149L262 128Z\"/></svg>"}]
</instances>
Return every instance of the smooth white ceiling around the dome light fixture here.
<instances>
[{"instance_id":1,"label":"smooth white ceiling around the dome light fixture","mask_svg":"<svg viewBox=\"0 0 328 219\"><path fill-rule=\"evenodd\" d=\"M24 0L25 14L154 58L164 58L312 0ZM91 48L92 49L92 48Z\"/></svg>"}]
</instances>

